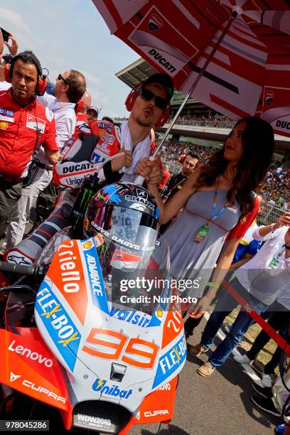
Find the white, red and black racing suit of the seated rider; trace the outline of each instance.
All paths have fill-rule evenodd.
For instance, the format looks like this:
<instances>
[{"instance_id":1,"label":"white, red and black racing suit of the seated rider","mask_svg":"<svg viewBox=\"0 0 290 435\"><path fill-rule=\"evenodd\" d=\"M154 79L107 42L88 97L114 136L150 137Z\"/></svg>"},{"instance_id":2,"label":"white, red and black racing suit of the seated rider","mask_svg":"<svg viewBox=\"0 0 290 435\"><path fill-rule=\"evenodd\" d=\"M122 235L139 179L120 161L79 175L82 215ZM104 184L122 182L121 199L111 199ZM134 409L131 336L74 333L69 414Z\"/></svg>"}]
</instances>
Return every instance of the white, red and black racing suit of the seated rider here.
<instances>
[{"instance_id":1,"label":"white, red and black racing suit of the seated rider","mask_svg":"<svg viewBox=\"0 0 290 435\"><path fill-rule=\"evenodd\" d=\"M117 152L119 146L117 141L121 140L122 146L125 149L131 149L131 136L129 136L128 122L123 122L121 126L121 134L119 127L112 123L109 123L109 134L112 136L112 145L114 145L114 152ZM92 127L90 131L89 126L85 123L82 127L82 135L80 139L77 139L68 152L63 157L61 163L55 166L61 188L65 187L62 193L60 193L60 200L58 200L55 210L47 220L45 220L29 237L22 240L16 247L12 248L9 252L6 252L5 259L9 260L9 257L15 255L21 255L25 257L25 261L29 264L38 259L41 255L43 248L55 235L56 232L68 227L70 222L68 220L70 212L75 203L75 198L78 188L82 185L82 181L85 177L92 175L97 171L97 175L100 178L100 182L114 183L115 181L134 181L136 178L136 166L142 157L149 157L151 149L151 136L148 134L146 138L136 144L132 154L132 165L130 168L122 168L119 172L113 173L111 162L107 162L102 168L102 163L99 163L100 159L104 159L104 156L100 152L104 151L102 146L102 139L97 142L97 136L94 134L97 132ZM100 159L98 159L100 156ZM91 159L94 159L93 161ZM95 160L97 159L97 163ZM77 189L77 190L75 190Z\"/></svg>"}]
</instances>

